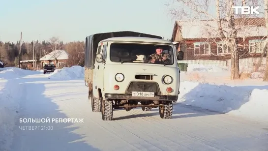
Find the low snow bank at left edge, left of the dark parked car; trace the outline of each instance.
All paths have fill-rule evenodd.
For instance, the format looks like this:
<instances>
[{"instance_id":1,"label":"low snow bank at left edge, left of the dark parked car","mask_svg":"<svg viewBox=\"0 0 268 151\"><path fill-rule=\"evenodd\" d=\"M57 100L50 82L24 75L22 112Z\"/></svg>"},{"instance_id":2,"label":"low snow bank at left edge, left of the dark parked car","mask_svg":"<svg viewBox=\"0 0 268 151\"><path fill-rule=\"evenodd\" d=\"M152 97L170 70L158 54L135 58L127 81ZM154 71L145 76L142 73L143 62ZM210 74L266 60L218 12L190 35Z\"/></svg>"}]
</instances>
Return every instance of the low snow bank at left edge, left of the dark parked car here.
<instances>
[{"instance_id":1,"label":"low snow bank at left edge, left of the dark parked car","mask_svg":"<svg viewBox=\"0 0 268 151\"><path fill-rule=\"evenodd\" d=\"M32 75L32 74L40 74L37 71L32 70L24 70L17 67L4 67L0 68L0 79L13 79L19 78L22 76Z\"/></svg>"}]
</instances>

